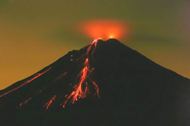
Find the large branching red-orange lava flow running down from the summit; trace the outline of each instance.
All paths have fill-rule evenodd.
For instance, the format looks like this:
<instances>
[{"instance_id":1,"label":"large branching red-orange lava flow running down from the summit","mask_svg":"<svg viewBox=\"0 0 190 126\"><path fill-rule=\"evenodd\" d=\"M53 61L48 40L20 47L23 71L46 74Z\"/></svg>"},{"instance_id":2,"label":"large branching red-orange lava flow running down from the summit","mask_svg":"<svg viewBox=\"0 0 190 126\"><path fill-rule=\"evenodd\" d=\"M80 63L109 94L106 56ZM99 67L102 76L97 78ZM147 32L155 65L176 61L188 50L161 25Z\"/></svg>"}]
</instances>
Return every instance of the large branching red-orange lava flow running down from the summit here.
<instances>
[{"instance_id":1,"label":"large branching red-orange lava flow running down from the summit","mask_svg":"<svg viewBox=\"0 0 190 126\"><path fill-rule=\"evenodd\" d=\"M72 104L74 104L79 99L83 99L87 96L87 93L89 91L89 83L92 84L96 91L96 95L99 96L99 86L96 84L94 80L89 78L89 75L91 74L92 70L90 68L90 62L89 62L89 56L92 53L92 51L96 48L97 40L94 40L87 49L86 58L84 60L84 67L81 70L80 73L80 80L79 82L74 86L73 91L66 95L66 100L63 103L63 108L66 107L66 104L68 101L71 101Z\"/></svg>"}]
</instances>

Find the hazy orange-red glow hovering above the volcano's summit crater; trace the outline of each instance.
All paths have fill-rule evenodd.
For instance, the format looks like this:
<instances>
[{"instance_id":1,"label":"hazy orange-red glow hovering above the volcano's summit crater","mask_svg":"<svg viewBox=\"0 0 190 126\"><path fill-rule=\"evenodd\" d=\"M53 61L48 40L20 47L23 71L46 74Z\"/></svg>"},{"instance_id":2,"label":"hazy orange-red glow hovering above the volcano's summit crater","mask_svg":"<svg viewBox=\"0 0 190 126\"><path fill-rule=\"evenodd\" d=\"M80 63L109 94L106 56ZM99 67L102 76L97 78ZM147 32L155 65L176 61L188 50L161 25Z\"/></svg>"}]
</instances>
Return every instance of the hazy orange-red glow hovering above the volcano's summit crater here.
<instances>
[{"instance_id":1,"label":"hazy orange-red glow hovering above the volcano's summit crater","mask_svg":"<svg viewBox=\"0 0 190 126\"><path fill-rule=\"evenodd\" d=\"M126 23L119 21L89 21L83 23L80 29L93 39L121 39L128 34Z\"/></svg>"}]
</instances>

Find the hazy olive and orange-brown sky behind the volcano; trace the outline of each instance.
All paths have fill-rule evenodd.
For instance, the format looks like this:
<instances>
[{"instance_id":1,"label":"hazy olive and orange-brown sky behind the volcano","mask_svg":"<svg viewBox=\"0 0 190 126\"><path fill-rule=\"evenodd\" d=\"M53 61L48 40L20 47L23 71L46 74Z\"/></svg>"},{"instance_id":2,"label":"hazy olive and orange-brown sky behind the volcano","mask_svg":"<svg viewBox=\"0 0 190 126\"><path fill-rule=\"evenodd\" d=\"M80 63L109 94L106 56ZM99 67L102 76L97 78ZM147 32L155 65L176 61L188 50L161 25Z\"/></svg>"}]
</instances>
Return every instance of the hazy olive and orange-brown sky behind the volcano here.
<instances>
[{"instance_id":1,"label":"hazy olive and orange-brown sky behind the volcano","mask_svg":"<svg viewBox=\"0 0 190 126\"><path fill-rule=\"evenodd\" d=\"M92 41L82 22L128 24L125 45L190 78L188 0L0 0L0 89Z\"/></svg>"}]
</instances>

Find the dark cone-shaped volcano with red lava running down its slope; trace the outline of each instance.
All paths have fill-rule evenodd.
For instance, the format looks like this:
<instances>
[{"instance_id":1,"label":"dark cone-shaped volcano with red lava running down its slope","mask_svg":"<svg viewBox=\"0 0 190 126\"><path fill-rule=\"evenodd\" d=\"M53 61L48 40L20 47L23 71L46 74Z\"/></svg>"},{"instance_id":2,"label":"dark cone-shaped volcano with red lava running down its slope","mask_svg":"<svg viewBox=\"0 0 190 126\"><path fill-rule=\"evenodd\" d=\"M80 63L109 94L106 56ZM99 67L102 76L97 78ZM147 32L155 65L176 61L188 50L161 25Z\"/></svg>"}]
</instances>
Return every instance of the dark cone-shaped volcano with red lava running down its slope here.
<instances>
[{"instance_id":1,"label":"dark cone-shaped volcano with red lava running down its slope","mask_svg":"<svg viewBox=\"0 0 190 126\"><path fill-rule=\"evenodd\" d=\"M0 91L1 126L189 126L190 80L95 40Z\"/></svg>"}]
</instances>

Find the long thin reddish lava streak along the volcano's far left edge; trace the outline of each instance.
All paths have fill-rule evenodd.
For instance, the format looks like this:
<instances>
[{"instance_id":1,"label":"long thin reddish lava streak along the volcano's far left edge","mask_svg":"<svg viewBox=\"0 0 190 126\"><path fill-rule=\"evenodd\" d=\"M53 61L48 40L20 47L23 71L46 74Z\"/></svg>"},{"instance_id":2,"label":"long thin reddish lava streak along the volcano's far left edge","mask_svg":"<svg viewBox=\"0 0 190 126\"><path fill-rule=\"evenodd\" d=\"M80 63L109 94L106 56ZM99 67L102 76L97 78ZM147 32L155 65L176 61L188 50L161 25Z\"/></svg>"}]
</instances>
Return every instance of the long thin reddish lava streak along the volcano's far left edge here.
<instances>
[{"instance_id":1,"label":"long thin reddish lava streak along the volcano's far left edge","mask_svg":"<svg viewBox=\"0 0 190 126\"><path fill-rule=\"evenodd\" d=\"M8 94L10 94L10 93L12 93L12 92L14 92L16 90L18 90L19 88L21 88L21 87L23 87L23 86L25 86L25 85L27 85L29 83L31 83L35 79L37 79L37 78L41 77L42 75L44 75L45 73L47 73L50 69L51 69L51 67L48 68L48 69L46 69L45 71L43 71L41 73L37 73L34 77L30 78L29 80L25 81L24 83L20 84L19 86L17 86L15 88L13 88L13 89L11 89L11 90L3 93L2 95L0 95L0 98L3 97L3 96L5 96L5 95L8 95Z\"/></svg>"}]
</instances>

